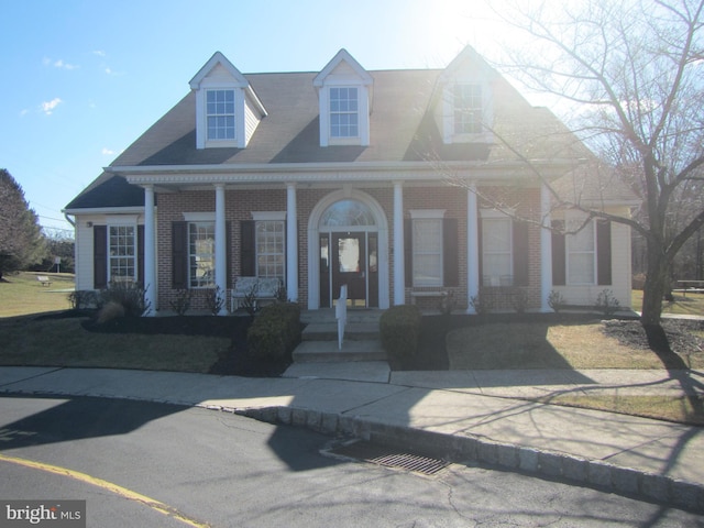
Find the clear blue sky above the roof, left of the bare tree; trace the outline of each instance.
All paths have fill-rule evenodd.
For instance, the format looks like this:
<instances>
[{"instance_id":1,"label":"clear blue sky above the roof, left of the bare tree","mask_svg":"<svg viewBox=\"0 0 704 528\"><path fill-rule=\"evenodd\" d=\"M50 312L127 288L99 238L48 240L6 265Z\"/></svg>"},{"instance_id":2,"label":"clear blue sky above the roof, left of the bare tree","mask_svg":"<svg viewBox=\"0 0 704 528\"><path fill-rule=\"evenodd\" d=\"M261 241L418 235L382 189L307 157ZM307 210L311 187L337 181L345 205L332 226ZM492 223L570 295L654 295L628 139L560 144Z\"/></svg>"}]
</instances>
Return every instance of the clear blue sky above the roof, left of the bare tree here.
<instances>
[{"instance_id":1,"label":"clear blue sky above the roof, left of the bare tree","mask_svg":"<svg viewBox=\"0 0 704 528\"><path fill-rule=\"evenodd\" d=\"M496 7L494 0L492 4ZM0 167L46 228L216 52L242 73L444 67L506 32L484 0L0 0ZM498 37L498 38L497 38Z\"/></svg>"}]
</instances>

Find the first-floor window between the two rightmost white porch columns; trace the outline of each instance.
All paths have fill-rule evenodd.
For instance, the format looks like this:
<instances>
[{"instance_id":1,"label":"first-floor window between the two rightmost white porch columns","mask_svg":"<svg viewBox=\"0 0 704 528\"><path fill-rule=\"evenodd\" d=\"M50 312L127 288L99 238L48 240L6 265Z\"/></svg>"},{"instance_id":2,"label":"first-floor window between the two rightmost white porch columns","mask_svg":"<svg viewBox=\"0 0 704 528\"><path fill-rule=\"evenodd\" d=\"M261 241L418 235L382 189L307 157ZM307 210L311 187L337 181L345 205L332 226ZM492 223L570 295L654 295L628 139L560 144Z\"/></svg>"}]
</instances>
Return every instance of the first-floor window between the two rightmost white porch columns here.
<instances>
[{"instance_id":1,"label":"first-floor window between the two rightmost white porch columns","mask_svg":"<svg viewBox=\"0 0 704 528\"><path fill-rule=\"evenodd\" d=\"M482 219L482 282L484 286L512 286L513 233L510 218Z\"/></svg>"}]
</instances>

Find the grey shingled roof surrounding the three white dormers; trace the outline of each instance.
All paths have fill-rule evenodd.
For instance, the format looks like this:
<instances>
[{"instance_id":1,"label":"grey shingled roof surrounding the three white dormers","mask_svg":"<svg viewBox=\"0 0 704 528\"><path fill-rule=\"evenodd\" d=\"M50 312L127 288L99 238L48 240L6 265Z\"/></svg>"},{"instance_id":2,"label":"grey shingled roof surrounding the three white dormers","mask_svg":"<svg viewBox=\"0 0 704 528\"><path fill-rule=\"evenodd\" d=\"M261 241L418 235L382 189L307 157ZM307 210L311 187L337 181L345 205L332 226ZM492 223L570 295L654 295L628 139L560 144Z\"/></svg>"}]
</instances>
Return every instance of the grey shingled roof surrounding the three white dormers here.
<instances>
[{"instance_id":1,"label":"grey shingled roof surrounding the three white dormers","mask_svg":"<svg viewBox=\"0 0 704 528\"><path fill-rule=\"evenodd\" d=\"M490 75L493 92L495 135L510 142L493 144L444 144L436 119L438 92L442 82L468 61L479 55L465 50L446 69L364 70L345 51L320 73L241 74L221 53L216 53L191 79L197 87L216 67L223 67L237 82L266 107L246 148L196 147L196 92L190 91L132 145L118 156L111 168L183 167L246 165L272 167L276 164L395 164L409 162L473 162L501 164L515 162L517 153L528 158L554 160L591 157L590 151L547 109L531 107L506 79L494 72ZM480 57L481 58L481 57ZM374 86L374 108L370 116L370 145L320 146L319 101L317 82L342 62L355 70L365 82ZM557 134L556 134L557 133ZM67 209L106 206L96 186L109 182L101 175ZM127 182L124 182L127 184ZM117 185L114 182L111 185ZM129 185L129 184L127 184ZM134 205L141 188L120 193L125 205ZM114 201L109 200L111 204ZM143 204L143 198L141 200ZM116 206L117 207L117 206Z\"/></svg>"}]
</instances>

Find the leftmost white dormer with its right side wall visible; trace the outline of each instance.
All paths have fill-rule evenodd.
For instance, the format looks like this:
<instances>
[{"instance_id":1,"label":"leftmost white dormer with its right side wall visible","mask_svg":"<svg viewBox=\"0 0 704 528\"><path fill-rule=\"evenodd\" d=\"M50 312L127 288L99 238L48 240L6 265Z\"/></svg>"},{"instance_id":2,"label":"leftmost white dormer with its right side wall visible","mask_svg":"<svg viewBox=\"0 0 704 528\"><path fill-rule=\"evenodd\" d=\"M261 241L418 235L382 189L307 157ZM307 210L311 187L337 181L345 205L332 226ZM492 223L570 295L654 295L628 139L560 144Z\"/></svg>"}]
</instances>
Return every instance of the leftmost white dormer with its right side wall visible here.
<instances>
[{"instance_id":1,"label":"leftmost white dormer with its right side wall visible","mask_svg":"<svg viewBox=\"0 0 704 528\"><path fill-rule=\"evenodd\" d=\"M190 88L196 91L196 147L246 147L266 109L240 70L217 52Z\"/></svg>"}]
</instances>

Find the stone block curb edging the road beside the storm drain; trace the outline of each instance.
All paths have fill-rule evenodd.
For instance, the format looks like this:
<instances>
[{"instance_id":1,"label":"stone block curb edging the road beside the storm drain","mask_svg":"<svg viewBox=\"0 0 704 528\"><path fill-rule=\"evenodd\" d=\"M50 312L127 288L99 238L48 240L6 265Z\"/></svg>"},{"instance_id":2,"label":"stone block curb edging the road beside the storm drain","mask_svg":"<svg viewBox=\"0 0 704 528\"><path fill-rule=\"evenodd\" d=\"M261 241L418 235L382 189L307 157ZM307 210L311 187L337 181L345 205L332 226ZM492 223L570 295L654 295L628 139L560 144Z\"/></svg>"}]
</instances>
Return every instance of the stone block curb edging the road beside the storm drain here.
<instances>
[{"instance_id":1,"label":"stone block curb edging the road beside the storm drain","mask_svg":"<svg viewBox=\"0 0 704 528\"><path fill-rule=\"evenodd\" d=\"M704 485L648 473L601 460L557 451L525 448L473 437L389 426L361 417L296 407L228 408L204 406L268 424L307 427L323 435L358 437L404 450L432 454L449 462L480 462L504 470L596 487L623 495L704 512Z\"/></svg>"}]
</instances>

